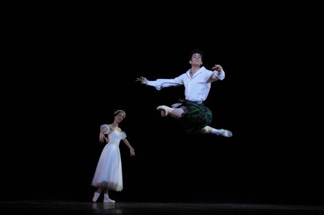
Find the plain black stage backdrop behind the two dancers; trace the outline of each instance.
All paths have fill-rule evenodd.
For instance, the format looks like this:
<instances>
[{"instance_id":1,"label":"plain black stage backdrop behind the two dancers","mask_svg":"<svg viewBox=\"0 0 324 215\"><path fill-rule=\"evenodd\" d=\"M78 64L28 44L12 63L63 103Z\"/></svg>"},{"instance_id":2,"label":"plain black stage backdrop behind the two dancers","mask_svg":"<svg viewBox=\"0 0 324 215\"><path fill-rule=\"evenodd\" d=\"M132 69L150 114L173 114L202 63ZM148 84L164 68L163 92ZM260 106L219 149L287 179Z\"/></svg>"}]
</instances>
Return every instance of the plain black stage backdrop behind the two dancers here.
<instances>
[{"instance_id":1,"label":"plain black stage backdrop behind the two dancers","mask_svg":"<svg viewBox=\"0 0 324 215\"><path fill-rule=\"evenodd\" d=\"M322 204L319 6L312 3L24 3L3 7L2 199L90 201L104 147L120 127L118 201ZM220 64L206 105L232 138L188 136L156 106L184 96L135 82L174 78L192 49ZM5 61L7 58L4 59ZM8 120L7 120L8 119ZM7 138L8 137L8 138Z\"/></svg>"}]
</instances>

